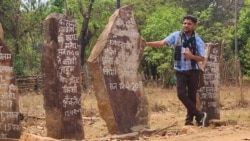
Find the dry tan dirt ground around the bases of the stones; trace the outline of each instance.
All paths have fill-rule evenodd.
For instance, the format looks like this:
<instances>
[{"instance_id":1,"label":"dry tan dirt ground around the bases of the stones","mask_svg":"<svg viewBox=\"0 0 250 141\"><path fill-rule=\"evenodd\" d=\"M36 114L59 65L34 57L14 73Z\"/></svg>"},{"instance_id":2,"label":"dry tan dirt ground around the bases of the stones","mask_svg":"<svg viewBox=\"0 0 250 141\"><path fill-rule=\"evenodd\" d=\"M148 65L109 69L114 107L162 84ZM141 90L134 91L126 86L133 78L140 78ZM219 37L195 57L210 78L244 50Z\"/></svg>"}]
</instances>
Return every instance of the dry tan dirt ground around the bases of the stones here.
<instances>
[{"instance_id":1,"label":"dry tan dirt ground around the bases of the stones","mask_svg":"<svg viewBox=\"0 0 250 141\"><path fill-rule=\"evenodd\" d=\"M242 92L242 93L241 93ZM150 107L150 129L164 129L154 135L141 135L139 140L147 141L250 141L250 88L235 86L220 88L220 118L224 126L183 126L185 108L177 99L176 89L146 87ZM46 136L45 111L41 94L20 95L20 111L25 115L22 121L23 133ZM101 140L110 137L105 122L100 118L95 96L86 91L82 96L85 140Z\"/></svg>"}]
</instances>

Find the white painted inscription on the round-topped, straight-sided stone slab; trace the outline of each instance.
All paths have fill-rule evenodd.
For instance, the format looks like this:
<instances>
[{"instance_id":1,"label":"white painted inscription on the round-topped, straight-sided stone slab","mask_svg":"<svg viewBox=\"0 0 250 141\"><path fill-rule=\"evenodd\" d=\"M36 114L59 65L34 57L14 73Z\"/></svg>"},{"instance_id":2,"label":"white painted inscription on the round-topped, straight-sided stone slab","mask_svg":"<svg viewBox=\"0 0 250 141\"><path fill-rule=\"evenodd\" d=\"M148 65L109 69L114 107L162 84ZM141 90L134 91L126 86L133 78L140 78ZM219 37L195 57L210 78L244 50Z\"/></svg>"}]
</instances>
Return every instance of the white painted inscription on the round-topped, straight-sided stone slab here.
<instances>
[{"instance_id":1,"label":"white painted inscription on the round-topped, straight-sided stone slab","mask_svg":"<svg viewBox=\"0 0 250 141\"><path fill-rule=\"evenodd\" d=\"M76 74L79 66L79 45L75 22L67 19L59 21L59 48L57 49L57 63L59 66L59 81L61 82L62 107L64 115L75 116L80 113L80 75Z\"/></svg>"}]
</instances>

